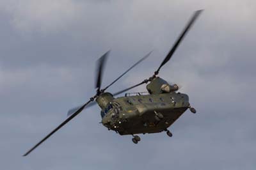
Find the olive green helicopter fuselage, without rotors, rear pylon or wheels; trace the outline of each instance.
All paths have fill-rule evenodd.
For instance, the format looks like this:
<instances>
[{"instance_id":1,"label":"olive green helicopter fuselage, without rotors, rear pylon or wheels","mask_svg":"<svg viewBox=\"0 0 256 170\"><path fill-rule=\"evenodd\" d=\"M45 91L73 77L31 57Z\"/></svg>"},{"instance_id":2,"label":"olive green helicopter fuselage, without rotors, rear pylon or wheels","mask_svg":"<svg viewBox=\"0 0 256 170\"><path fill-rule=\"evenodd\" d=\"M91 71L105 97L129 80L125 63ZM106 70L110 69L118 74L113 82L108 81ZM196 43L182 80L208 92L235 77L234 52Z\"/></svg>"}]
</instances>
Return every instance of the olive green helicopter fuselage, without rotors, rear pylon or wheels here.
<instances>
[{"instance_id":1,"label":"olive green helicopter fuselage, without rotors, rear pylon or wheels","mask_svg":"<svg viewBox=\"0 0 256 170\"><path fill-rule=\"evenodd\" d=\"M102 105L104 98L110 101L106 100ZM188 95L176 92L157 95L137 93L119 98L104 93L97 102L102 108L102 124L120 135L162 132L189 108ZM156 118L159 113L163 118Z\"/></svg>"}]
</instances>

